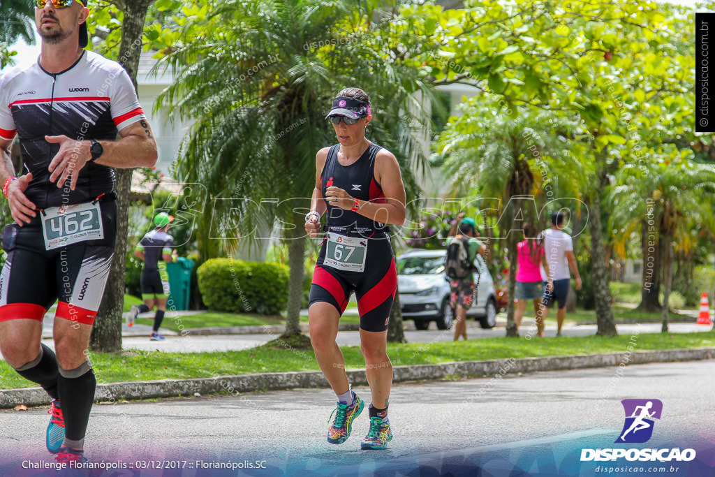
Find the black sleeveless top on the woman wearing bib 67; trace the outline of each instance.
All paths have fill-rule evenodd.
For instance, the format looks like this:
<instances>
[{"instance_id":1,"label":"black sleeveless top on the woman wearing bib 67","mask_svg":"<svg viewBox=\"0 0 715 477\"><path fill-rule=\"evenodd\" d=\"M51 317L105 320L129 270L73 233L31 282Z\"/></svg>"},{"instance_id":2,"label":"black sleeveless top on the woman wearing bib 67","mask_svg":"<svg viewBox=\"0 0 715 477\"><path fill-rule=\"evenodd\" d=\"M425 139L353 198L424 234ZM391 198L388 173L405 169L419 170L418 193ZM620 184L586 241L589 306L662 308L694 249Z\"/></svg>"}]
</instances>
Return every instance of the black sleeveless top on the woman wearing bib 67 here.
<instances>
[{"instance_id":1,"label":"black sleeveless top on the woman wearing bib 67","mask_svg":"<svg viewBox=\"0 0 715 477\"><path fill-rule=\"evenodd\" d=\"M340 144L335 144L327 153L325 167L322 168L320 176L322 196L325 197L327 187L332 185L340 187L356 199L384 204L383 188L375 180L375 156L383 148L371 142L363 155L349 166L343 166L338 162L338 149L340 149ZM373 239L389 237L390 227L388 225L375 222L358 212L343 210L328 202L325 204L327 205L327 229L331 232Z\"/></svg>"}]
</instances>

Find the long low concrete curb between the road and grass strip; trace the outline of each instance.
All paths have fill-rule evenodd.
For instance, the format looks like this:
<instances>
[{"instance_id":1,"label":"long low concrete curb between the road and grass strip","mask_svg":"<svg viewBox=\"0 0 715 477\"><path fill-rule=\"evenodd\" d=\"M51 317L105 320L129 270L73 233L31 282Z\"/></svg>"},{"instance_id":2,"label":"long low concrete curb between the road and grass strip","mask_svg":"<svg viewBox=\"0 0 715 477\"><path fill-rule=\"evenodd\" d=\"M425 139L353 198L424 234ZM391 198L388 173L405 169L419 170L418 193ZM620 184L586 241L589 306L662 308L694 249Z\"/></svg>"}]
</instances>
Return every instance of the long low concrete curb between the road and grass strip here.
<instances>
[{"instance_id":1,"label":"long low concrete curb between the road and grass strip","mask_svg":"<svg viewBox=\"0 0 715 477\"><path fill-rule=\"evenodd\" d=\"M715 348L681 350L637 351L596 355L546 356L543 358L508 358L488 361L461 361L435 365L395 366L394 382L440 379L448 377L473 377L494 374L533 373L559 369L598 368L618 366L621 363L645 364L669 361L709 360ZM627 359L627 361L626 361ZM367 385L364 370L347 370L350 383ZM186 380L137 381L97 385L94 399L113 402L119 399L172 398L227 392L248 393L257 390L282 390L290 388L326 388L327 381L320 371L292 373L257 373L234 376L217 376ZM22 403L28 406L49 405L49 398L41 388L0 390L0 408L14 408Z\"/></svg>"}]
</instances>

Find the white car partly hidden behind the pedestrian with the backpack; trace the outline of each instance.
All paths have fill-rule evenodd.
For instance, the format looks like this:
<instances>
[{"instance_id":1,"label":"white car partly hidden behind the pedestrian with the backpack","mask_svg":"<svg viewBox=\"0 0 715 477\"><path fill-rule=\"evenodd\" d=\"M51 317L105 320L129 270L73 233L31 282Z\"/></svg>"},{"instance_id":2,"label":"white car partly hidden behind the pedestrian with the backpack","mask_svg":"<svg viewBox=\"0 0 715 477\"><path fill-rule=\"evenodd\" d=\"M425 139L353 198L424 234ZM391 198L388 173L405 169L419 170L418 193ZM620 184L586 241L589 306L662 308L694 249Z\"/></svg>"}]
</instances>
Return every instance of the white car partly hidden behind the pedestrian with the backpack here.
<instances>
[{"instance_id":1,"label":"white car partly hidden behind the pedestrian with the backpack","mask_svg":"<svg viewBox=\"0 0 715 477\"><path fill-rule=\"evenodd\" d=\"M449 303L445 254L446 250L411 249L398 258L398 291L403 318L415 320L418 330L426 330L430 321L435 321L440 330L452 327L454 314ZM479 289L477 301L467 311L467 318L478 319L482 328L494 328L498 311L494 282L480 255L477 255L475 265L480 274Z\"/></svg>"}]
</instances>

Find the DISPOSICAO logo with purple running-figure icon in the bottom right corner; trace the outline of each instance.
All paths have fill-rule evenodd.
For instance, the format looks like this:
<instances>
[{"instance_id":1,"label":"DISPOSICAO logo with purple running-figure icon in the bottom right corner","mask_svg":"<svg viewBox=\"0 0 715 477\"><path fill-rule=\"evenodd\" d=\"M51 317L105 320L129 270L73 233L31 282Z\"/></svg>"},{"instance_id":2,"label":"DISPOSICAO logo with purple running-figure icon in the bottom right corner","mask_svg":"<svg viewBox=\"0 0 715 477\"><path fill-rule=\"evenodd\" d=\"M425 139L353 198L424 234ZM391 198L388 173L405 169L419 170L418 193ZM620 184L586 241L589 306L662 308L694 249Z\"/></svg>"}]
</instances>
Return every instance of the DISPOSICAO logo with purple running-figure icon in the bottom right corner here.
<instances>
[{"instance_id":1,"label":"DISPOSICAO logo with purple running-figure icon in the bottom right corner","mask_svg":"<svg viewBox=\"0 0 715 477\"><path fill-rule=\"evenodd\" d=\"M663 403L659 399L623 399L621 401L626 413L623 429L614 443L638 444L648 442L653 436L656 420L660 420ZM692 461L695 458L694 449L680 448L605 448L581 449L581 461L616 461L625 458L626 461Z\"/></svg>"}]
</instances>

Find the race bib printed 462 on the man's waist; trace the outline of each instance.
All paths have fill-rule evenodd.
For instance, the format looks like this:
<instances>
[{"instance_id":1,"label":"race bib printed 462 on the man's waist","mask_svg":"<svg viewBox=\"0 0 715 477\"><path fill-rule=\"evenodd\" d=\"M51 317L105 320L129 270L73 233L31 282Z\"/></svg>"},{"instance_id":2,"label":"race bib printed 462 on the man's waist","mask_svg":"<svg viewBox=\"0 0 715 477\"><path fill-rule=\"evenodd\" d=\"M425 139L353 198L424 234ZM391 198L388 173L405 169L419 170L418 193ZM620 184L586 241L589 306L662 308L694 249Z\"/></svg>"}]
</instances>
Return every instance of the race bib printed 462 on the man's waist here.
<instances>
[{"instance_id":1,"label":"race bib printed 462 on the man's waist","mask_svg":"<svg viewBox=\"0 0 715 477\"><path fill-rule=\"evenodd\" d=\"M41 217L45 250L104 238L99 202L51 207Z\"/></svg>"}]
</instances>

